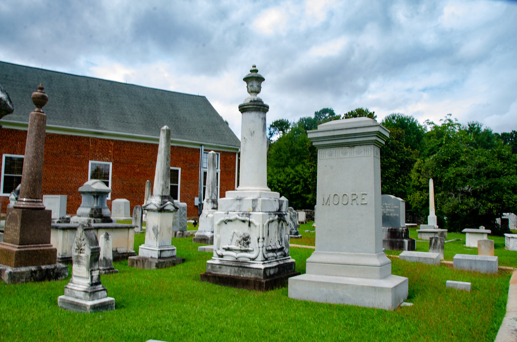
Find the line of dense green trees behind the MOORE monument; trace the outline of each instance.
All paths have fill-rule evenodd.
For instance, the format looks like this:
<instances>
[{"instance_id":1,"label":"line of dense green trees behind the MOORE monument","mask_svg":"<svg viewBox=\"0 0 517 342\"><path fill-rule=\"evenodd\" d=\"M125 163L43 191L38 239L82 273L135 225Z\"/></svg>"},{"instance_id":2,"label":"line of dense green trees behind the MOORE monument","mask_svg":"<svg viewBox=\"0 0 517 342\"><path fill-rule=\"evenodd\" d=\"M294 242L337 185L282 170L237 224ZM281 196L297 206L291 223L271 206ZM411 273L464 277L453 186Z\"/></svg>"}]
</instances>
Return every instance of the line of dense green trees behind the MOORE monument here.
<instances>
[{"instance_id":1,"label":"line of dense green trees behind the MOORE monument","mask_svg":"<svg viewBox=\"0 0 517 342\"><path fill-rule=\"evenodd\" d=\"M272 191L296 209L316 204L316 148L308 130L337 119L369 117L368 108L337 115L322 108L290 122L279 119L268 129L267 179ZM390 131L381 148L382 193L406 200L406 215L415 222L429 215L429 178L434 181L438 225L450 231L477 228L503 231L496 218L517 212L517 131L494 133L479 122L462 125L451 114L438 123L420 124L393 113L381 125Z\"/></svg>"}]
</instances>

